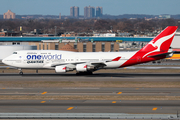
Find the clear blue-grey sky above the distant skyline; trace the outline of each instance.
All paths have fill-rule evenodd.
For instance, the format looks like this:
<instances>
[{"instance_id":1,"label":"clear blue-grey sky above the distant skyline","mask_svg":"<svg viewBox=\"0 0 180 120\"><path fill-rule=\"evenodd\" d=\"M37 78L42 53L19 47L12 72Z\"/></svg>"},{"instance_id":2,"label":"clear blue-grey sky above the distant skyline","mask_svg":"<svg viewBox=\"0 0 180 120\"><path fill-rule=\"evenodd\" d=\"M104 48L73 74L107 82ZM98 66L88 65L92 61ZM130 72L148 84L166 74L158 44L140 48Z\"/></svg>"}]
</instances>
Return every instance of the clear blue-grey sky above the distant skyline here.
<instances>
[{"instance_id":1,"label":"clear blue-grey sky above the distant skyline","mask_svg":"<svg viewBox=\"0 0 180 120\"><path fill-rule=\"evenodd\" d=\"M101 6L103 14L180 14L180 0L0 0L0 14L10 9L16 15L70 15L70 7Z\"/></svg>"}]
</instances>

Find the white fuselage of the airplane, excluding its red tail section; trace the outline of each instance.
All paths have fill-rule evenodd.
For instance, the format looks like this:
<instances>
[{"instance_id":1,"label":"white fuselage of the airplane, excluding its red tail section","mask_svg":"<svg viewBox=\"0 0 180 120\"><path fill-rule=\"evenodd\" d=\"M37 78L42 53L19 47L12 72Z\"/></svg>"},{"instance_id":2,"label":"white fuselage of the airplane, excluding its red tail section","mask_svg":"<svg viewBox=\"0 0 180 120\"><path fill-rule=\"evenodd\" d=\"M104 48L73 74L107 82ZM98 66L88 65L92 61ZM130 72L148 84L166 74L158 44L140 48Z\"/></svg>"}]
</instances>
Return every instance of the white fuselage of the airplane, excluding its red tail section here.
<instances>
[{"instance_id":1,"label":"white fuselage of the airplane, excluding its red tail section","mask_svg":"<svg viewBox=\"0 0 180 120\"><path fill-rule=\"evenodd\" d=\"M11 56L3 59L3 63L18 67L31 69L54 69L54 66L68 64L75 68L79 63L101 63L103 68L118 68L125 63L136 52L68 52L61 50L23 50L16 51ZM111 61L121 57L118 61Z\"/></svg>"}]
</instances>

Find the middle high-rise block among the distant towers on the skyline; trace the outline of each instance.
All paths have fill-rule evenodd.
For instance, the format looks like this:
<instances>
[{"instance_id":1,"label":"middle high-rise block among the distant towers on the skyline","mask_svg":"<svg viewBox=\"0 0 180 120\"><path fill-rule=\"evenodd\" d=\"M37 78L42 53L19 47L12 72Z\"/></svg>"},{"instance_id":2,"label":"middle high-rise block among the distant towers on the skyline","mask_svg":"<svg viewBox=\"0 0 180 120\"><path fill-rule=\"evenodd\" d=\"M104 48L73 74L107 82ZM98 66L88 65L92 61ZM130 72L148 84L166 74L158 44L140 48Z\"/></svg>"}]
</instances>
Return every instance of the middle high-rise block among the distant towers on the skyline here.
<instances>
[{"instance_id":1,"label":"middle high-rise block among the distant towers on the skyline","mask_svg":"<svg viewBox=\"0 0 180 120\"><path fill-rule=\"evenodd\" d=\"M85 18L92 18L95 17L95 8L94 7L84 7L84 17Z\"/></svg>"}]
</instances>

